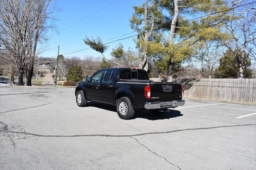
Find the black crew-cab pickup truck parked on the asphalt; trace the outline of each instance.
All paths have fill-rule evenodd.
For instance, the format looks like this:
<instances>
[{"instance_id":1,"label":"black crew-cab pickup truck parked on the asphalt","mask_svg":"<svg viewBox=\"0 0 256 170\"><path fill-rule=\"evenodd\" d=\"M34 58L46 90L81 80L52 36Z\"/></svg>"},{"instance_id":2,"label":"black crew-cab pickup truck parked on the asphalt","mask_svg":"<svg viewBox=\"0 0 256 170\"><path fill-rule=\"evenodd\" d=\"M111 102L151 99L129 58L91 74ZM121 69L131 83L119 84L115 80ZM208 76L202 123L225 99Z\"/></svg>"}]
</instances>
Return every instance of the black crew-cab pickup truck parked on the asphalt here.
<instances>
[{"instance_id":1,"label":"black crew-cab pickup truck parked on the asphalt","mask_svg":"<svg viewBox=\"0 0 256 170\"><path fill-rule=\"evenodd\" d=\"M167 108L185 104L181 84L153 82L145 70L137 68L98 70L77 84L75 95L79 107L87 101L116 105L121 119L131 119L136 108L162 114Z\"/></svg>"}]
</instances>

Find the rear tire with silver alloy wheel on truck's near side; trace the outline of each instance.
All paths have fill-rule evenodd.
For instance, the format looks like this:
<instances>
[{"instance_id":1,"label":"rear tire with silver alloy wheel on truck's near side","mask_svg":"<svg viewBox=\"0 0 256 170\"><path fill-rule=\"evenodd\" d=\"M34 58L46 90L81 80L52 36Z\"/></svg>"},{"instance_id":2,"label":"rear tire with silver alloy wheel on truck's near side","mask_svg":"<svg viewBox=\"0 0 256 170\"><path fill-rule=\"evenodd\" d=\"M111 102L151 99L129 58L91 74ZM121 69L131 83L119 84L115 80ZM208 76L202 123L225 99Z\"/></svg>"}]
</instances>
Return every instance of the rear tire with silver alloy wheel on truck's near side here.
<instances>
[{"instance_id":1,"label":"rear tire with silver alloy wheel on truck's near side","mask_svg":"<svg viewBox=\"0 0 256 170\"><path fill-rule=\"evenodd\" d=\"M121 119L132 119L134 116L134 109L132 108L132 103L128 97L121 97L116 101L116 111L118 113L118 116Z\"/></svg>"}]
</instances>

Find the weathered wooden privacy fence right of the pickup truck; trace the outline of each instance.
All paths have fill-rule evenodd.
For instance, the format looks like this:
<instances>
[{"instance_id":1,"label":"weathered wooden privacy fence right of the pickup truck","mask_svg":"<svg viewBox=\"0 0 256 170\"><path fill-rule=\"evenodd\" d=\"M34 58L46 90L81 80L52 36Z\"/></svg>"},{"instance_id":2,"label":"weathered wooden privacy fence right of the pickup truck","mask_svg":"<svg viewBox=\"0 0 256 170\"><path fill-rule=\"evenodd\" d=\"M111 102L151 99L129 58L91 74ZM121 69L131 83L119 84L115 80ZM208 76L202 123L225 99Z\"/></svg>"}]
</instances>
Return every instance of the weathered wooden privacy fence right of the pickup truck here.
<instances>
[{"instance_id":1,"label":"weathered wooden privacy fence right of the pickup truck","mask_svg":"<svg viewBox=\"0 0 256 170\"><path fill-rule=\"evenodd\" d=\"M181 79L184 97L256 103L256 79Z\"/></svg>"}]
</instances>

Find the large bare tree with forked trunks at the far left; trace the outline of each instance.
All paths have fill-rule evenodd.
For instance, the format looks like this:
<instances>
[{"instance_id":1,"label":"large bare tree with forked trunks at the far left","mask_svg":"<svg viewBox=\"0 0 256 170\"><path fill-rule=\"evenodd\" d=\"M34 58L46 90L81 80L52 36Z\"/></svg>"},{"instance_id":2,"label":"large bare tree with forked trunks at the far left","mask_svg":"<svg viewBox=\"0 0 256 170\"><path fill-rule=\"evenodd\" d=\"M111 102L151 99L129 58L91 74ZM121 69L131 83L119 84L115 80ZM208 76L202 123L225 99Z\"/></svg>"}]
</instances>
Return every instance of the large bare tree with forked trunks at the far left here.
<instances>
[{"instance_id":1,"label":"large bare tree with forked trunks at the far left","mask_svg":"<svg viewBox=\"0 0 256 170\"><path fill-rule=\"evenodd\" d=\"M36 46L45 28L49 28L45 25L49 4L50 0L0 1L0 50L14 61L19 85L24 85L24 71L31 85Z\"/></svg>"}]
</instances>

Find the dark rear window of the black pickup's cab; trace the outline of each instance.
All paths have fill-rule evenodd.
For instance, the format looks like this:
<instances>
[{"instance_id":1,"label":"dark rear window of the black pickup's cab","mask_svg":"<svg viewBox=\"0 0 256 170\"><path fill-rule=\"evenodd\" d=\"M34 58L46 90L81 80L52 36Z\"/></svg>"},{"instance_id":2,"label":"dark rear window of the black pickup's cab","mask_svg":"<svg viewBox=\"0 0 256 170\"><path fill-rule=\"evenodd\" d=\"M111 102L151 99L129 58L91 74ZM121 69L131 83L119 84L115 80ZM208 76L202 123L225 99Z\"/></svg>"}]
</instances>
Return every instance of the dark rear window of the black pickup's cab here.
<instances>
[{"instance_id":1,"label":"dark rear window of the black pickup's cab","mask_svg":"<svg viewBox=\"0 0 256 170\"><path fill-rule=\"evenodd\" d=\"M141 70L122 70L119 79L148 80L148 74Z\"/></svg>"}]
</instances>

